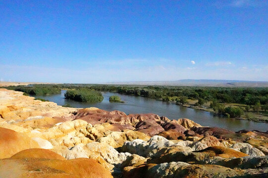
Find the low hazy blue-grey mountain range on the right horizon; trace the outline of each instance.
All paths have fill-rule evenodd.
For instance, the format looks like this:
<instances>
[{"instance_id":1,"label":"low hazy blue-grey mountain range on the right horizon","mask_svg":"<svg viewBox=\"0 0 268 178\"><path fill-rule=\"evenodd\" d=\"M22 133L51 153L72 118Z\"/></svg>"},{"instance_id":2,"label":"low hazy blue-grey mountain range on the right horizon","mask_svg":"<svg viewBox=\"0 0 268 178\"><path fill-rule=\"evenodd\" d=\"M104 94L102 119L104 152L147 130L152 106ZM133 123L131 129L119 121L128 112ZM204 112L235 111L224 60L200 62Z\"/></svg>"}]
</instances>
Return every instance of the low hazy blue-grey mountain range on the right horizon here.
<instances>
[{"instance_id":1,"label":"low hazy blue-grey mountain range on the right horizon","mask_svg":"<svg viewBox=\"0 0 268 178\"><path fill-rule=\"evenodd\" d=\"M155 86L203 86L203 87L268 87L268 82L238 80L177 80L177 81L136 81L109 82L115 85L155 85Z\"/></svg>"}]
</instances>

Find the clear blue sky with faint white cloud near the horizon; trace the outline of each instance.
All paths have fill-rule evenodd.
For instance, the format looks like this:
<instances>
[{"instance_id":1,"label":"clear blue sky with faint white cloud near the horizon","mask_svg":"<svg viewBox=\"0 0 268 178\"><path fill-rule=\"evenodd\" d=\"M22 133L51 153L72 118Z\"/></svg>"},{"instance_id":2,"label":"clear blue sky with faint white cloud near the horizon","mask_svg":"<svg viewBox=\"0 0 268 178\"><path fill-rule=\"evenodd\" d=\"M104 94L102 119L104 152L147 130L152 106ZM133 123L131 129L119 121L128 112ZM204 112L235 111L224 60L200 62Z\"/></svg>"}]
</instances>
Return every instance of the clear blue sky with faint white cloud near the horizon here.
<instances>
[{"instance_id":1,"label":"clear blue sky with faint white cloud near the horizon","mask_svg":"<svg viewBox=\"0 0 268 178\"><path fill-rule=\"evenodd\" d=\"M268 0L0 0L0 78L268 81Z\"/></svg>"}]
</instances>

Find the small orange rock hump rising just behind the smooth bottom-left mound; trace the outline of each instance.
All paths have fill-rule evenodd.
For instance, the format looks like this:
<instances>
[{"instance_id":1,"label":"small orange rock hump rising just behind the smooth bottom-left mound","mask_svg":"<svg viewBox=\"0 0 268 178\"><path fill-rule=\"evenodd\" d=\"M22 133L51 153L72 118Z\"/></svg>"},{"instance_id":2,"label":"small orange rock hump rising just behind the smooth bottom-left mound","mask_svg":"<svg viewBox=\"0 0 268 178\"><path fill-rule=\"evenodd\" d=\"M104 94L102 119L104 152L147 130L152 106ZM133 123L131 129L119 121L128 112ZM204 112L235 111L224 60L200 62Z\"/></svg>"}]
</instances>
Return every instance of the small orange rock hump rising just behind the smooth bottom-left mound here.
<instances>
[{"instance_id":1,"label":"small orange rock hump rising just behind the smooth bottom-left mound","mask_svg":"<svg viewBox=\"0 0 268 178\"><path fill-rule=\"evenodd\" d=\"M65 157L48 149L42 149L42 148L26 149L14 154L10 158L12 159L44 158L44 159L66 160Z\"/></svg>"}]
</instances>

